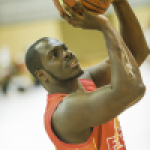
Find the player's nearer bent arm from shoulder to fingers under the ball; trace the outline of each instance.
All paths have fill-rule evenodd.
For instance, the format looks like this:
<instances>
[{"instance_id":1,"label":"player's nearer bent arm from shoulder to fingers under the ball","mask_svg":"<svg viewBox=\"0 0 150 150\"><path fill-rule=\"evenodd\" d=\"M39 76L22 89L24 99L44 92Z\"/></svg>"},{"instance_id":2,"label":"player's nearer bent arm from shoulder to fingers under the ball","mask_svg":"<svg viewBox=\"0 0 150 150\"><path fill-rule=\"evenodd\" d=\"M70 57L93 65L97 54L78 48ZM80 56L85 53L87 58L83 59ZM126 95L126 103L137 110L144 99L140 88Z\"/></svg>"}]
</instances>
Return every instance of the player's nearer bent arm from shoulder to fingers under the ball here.
<instances>
[{"instance_id":1,"label":"player's nearer bent arm from shoulder to fingers under the ball","mask_svg":"<svg viewBox=\"0 0 150 150\"><path fill-rule=\"evenodd\" d=\"M54 126L61 124L74 132L110 121L130 103L140 100L145 92L138 65L111 23L103 15L79 6L82 16L67 8L72 17L63 15L63 18L75 27L102 31L111 61L111 84L90 93L72 93L57 107Z\"/></svg>"}]
</instances>

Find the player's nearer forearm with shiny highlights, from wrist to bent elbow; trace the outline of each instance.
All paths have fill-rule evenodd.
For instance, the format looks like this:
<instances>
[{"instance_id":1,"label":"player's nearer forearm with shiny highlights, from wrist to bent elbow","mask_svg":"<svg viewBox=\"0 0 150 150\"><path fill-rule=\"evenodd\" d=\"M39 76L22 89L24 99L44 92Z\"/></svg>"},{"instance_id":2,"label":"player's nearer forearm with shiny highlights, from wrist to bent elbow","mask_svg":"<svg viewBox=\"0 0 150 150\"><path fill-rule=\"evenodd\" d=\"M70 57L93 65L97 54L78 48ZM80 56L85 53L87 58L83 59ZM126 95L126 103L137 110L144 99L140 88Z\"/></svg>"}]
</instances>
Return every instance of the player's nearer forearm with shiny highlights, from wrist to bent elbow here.
<instances>
[{"instance_id":1,"label":"player's nearer forearm with shiny highlights, from wrist to bent elbow","mask_svg":"<svg viewBox=\"0 0 150 150\"><path fill-rule=\"evenodd\" d=\"M143 82L135 59L109 21L105 23L102 33L111 61L112 87L142 85ZM119 84L120 86L118 86Z\"/></svg>"}]
</instances>

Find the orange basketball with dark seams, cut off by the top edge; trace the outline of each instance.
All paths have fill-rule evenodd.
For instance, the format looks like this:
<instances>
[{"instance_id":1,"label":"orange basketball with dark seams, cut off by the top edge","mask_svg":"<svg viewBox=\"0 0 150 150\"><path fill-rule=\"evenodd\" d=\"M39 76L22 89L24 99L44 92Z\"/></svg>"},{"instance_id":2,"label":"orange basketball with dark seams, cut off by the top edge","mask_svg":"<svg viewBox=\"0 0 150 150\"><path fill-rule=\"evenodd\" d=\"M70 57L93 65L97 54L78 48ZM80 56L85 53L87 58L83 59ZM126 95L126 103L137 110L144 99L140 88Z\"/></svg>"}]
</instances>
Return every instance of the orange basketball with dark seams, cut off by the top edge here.
<instances>
[{"instance_id":1,"label":"orange basketball with dark seams, cut off by the top edge","mask_svg":"<svg viewBox=\"0 0 150 150\"><path fill-rule=\"evenodd\" d=\"M69 7L74 8L75 0L53 0L56 8L65 13L63 4L67 4ZM111 0L80 0L84 7L90 11L103 14L108 9ZM66 12L67 13L67 12Z\"/></svg>"}]
</instances>

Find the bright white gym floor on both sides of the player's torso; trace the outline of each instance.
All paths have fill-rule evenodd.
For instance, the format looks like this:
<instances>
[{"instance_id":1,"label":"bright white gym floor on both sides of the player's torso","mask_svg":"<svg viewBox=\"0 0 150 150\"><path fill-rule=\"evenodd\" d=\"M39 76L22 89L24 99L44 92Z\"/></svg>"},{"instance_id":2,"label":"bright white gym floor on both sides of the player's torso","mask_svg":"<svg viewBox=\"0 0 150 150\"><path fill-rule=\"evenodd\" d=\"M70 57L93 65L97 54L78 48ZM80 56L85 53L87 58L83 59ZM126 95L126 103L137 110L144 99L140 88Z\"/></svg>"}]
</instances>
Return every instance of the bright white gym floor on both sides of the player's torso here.
<instances>
[{"instance_id":1,"label":"bright white gym floor on both sides of the player's torso","mask_svg":"<svg viewBox=\"0 0 150 150\"><path fill-rule=\"evenodd\" d=\"M119 116L127 150L150 150L150 63L141 67L144 98ZM44 129L46 91L0 94L0 150L54 150Z\"/></svg>"}]
</instances>

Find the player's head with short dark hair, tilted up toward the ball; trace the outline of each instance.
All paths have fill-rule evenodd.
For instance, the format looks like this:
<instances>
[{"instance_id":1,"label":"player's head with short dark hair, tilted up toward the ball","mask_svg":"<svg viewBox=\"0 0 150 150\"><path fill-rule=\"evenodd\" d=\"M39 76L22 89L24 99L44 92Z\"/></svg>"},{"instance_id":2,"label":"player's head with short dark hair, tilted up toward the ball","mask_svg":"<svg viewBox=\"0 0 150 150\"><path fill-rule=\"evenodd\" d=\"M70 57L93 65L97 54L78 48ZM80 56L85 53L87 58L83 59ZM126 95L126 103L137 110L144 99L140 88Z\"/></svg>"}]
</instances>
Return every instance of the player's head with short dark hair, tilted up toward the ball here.
<instances>
[{"instance_id":1,"label":"player's head with short dark hair, tilted up toward the ball","mask_svg":"<svg viewBox=\"0 0 150 150\"><path fill-rule=\"evenodd\" d=\"M76 56L53 38L41 38L30 46L25 62L30 73L42 82L51 78L66 82L83 73Z\"/></svg>"}]
</instances>

